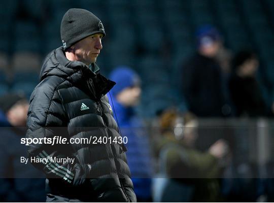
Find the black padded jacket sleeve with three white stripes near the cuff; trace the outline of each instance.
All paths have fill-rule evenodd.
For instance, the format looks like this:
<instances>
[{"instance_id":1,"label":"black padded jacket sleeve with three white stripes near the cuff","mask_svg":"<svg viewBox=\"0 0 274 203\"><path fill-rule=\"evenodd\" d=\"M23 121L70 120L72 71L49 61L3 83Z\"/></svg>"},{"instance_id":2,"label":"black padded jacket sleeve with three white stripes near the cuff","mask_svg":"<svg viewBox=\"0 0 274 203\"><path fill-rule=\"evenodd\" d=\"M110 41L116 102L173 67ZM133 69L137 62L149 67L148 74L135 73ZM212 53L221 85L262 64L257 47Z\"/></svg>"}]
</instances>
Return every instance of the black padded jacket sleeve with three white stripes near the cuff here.
<instances>
[{"instance_id":1,"label":"black padded jacket sleeve with three white stripes near the cuff","mask_svg":"<svg viewBox=\"0 0 274 203\"><path fill-rule=\"evenodd\" d=\"M52 139L54 136L62 136L69 142L67 136L67 119L61 102L61 98L52 85L40 84L32 92L27 118L27 139ZM45 144L44 140L38 144L29 144L29 160L39 158L45 160L31 162L48 178L61 178L63 181L80 185L85 182L88 174L88 166L81 165L73 155L69 144ZM54 158L71 158L74 162L56 162ZM44 158L44 159L43 159ZM46 162L46 158L48 161Z\"/></svg>"}]
</instances>

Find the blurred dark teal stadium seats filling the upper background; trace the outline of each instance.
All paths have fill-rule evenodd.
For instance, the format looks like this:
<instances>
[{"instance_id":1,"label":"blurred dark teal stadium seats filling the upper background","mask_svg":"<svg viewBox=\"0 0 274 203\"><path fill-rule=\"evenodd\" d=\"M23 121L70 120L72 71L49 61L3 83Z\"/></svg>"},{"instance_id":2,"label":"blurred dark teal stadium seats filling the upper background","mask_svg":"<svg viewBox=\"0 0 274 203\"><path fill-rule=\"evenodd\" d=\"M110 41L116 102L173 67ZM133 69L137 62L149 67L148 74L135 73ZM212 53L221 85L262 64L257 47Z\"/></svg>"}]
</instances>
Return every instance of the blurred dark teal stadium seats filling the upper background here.
<instances>
[{"instance_id":1,"label":"blurred dark teal stadium seats filling the upper background","mask_svg":"<svg viewBox=\"0 0 274 203\"><path fill-rule=\"evenodd\" d=\"M273 101L272 0L1 1L0 95L30 95L43 58L62 45L60 22L70 8L87 9L104 23L107 36L97 60L103 74L129 65L141 75L143 116L182 103L177 89L181 64L195 50L194 31L202 24L217 26L231 51L252 48L259 54L259 78L265 96Z\"/></svg>"}]
</instances>

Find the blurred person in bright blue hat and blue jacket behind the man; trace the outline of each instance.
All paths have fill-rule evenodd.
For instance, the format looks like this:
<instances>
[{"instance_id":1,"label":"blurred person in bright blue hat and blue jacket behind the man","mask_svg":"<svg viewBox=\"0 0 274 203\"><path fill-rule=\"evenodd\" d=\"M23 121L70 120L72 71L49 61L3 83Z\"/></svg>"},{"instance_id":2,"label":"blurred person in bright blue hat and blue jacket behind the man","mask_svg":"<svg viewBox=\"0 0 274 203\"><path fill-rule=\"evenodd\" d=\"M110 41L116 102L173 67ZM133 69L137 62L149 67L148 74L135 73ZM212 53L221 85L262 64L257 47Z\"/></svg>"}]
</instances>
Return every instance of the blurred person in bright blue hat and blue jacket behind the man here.
<instances>
[{"instance_id":1,"label":"blurred person in bright blue hat and blue jacket behind the man","mask_svg":"<svg viewBox=\"0 0 274 203\"><path fill-rule=\"evenodd\" d=\"M127 161L130 168L134 192L138 202L152 201L152 163L148 132L134 107L141 97L140 77L129 67L117 67L110 74L116 85L109 93L112 109L122 136L126 136Z\"/></svg>"}]
</instances>

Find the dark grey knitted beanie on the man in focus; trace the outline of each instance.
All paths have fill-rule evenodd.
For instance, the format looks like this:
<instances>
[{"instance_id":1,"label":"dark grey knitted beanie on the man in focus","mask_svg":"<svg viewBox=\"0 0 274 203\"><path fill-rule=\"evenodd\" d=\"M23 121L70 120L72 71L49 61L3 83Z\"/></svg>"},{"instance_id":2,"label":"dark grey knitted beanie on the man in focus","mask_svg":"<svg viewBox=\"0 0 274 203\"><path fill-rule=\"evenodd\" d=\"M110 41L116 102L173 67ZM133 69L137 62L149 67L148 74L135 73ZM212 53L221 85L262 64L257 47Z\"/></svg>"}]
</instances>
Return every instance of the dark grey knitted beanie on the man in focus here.
<instances>
[{"instance_id":1,"label":"dark grey knitted beanie on the man in focus","mask_svg":"<svg viewBox=\"0 0 274 203\"><path fill-rule=\"evenodd\" d=\"M69 9L63 16L60 33L64 50L95 33L106 36L100 19L85 9Z\"/></svg>"}]
</instances>

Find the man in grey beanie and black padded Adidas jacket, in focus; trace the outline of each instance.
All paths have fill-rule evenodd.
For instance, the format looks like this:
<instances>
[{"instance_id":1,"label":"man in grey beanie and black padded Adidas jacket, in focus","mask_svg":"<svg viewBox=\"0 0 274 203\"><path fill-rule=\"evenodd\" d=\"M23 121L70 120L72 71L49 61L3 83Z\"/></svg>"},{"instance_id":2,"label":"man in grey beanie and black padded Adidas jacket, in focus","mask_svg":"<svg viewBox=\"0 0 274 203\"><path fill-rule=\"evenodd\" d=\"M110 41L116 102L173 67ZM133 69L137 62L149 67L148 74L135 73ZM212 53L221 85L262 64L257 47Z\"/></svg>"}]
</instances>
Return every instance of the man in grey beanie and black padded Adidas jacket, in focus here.
<instances>
[{"instance_id":1,"label":"man in grey beanie and black padded Adidas jacket, in focus","mask_svg":"<svg viewBox=\"0 0 274 203\"><path fill-rule=\"evenodd\" d=\"M66 144L28 147L29 157L67 158L33 163L47 176L47 201L136 201L127 149L117 142L121 136L106 95L115 82L95 63L104 26L91 12L70 9L60 32L63 46L44 60L27 119L26 138L67 138ZM71 142L77 139L89 142Z\"/></svg>"}]
</instances>

